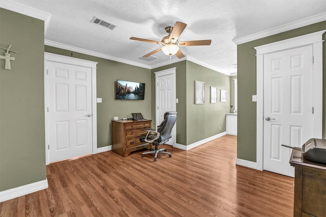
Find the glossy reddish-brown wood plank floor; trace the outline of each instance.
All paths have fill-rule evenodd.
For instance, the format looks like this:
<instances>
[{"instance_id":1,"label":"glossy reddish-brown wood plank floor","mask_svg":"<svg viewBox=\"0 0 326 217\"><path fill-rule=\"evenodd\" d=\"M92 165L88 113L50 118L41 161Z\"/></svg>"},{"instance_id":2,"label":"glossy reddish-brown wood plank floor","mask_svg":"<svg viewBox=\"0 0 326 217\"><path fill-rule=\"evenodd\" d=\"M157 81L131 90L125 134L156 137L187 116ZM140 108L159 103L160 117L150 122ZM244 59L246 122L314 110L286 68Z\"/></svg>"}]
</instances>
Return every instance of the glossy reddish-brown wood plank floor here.
<instances>
[{"instance_id":1,"label":"glossy reddish-brown wood plank floor","mask_svg":"<svg viewBox=\"0 0 326 217\"><path fill-rule=\"evenodd\" d=\"M293 216L293 178L236 166L236 137L172 158L107 151L47 166L49 188L0 203L0 216Z\"/></svg>"}]
</instances>

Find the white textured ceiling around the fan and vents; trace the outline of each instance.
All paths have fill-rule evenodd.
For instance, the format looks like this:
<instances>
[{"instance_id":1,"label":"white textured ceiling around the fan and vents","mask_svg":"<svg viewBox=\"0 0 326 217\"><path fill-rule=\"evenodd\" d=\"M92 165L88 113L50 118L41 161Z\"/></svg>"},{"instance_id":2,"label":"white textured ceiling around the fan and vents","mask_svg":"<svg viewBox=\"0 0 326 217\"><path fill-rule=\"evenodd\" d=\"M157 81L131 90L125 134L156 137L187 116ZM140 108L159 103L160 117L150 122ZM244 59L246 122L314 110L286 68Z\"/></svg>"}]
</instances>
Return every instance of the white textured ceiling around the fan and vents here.
<instances>
[{"instance_id":1,"label":"white textured ceiling around the fan and vents","mask_svg":"<svg viewBox=\"0 0 326 217\"><path fill-rule=\"evenodd\" d=\"M297 20L326 14L324 0L11 0L51 14L45 39L140 66L155 68L175 61L162 52L157 59L140 59L161 45L129 40L160 41L166 26L187 24L179 41L211 39L210 46L180 47L187 59L225 74L236 73L232 41ZM91 21L98 17L118 25L109 30ZM322 16L325 17L325 16Z\"/></svg>"}]
</instances>

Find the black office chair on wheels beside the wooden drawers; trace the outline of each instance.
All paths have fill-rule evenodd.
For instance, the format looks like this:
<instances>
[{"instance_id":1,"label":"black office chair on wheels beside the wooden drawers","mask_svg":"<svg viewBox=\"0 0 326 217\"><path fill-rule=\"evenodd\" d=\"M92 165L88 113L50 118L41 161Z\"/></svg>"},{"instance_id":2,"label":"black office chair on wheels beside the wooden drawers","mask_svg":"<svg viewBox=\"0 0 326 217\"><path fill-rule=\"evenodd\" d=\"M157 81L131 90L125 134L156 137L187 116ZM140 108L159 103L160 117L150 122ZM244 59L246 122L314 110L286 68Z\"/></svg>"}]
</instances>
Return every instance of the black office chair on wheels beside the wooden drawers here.
<instances>
[{"instance_id":1,"label":"black office chair on wheels beside the wooden drawers","mask_svg":"<svg viewBox=\"0 0 326 217\"><path fill-rule=\"evenodd\" d=\"M150 148L149 151L142 153L142 158L144 154L155 153L154 161L156 161L158 153L166 153L169 154L171 158L172 155L170 152L167 152L167 149L161 148L158 149L158 146L161 144L166 143L172 137L172 128L175 124L177 119L177 112L166 112L164 114L164 120L161 124L157 127L157 131L153 129L146 129L147 131L146 136L140 137L141 142L148 142L152 145L155 145L155 149Z\"/></svg>"}]
</instances>

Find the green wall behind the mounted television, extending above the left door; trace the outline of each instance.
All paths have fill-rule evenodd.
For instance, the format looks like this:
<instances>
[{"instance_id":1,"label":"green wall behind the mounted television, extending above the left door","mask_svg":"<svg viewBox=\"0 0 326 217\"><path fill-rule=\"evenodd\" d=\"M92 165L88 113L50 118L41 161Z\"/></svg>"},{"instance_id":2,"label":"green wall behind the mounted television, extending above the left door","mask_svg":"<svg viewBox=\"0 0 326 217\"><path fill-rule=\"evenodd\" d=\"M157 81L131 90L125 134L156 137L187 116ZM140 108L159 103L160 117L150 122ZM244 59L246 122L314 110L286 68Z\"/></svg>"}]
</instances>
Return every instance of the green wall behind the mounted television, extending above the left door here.
<instances>
[{"instance_id":1,"label":"green wall behind the mounted television, extending above the left door","mask_svg":"<svg viewBox=\"0 0 326 217\"><path fill-rule=\"evenodd\" d=\"M97 147L112 145L111 121L114 116L120 119L130 117L130 113L141 112L150 119L151 114L151 77L150 70L119 63L108 59L90 56L60 48L45 46L45 52L96 61L96 95L102 98L97 103ZM115 82L117 79L145 83L145 100L115 100Z\"/></svg>"}]
</instances>

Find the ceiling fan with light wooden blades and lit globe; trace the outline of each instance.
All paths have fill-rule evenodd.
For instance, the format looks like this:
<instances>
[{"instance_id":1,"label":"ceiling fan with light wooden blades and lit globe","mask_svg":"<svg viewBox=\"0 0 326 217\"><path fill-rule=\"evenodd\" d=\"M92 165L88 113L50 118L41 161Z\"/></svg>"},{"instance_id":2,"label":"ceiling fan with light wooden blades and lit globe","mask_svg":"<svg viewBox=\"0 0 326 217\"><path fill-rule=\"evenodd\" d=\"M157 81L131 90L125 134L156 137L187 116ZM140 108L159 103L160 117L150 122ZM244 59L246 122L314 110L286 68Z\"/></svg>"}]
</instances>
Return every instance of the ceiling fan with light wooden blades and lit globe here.
<instances>
[{"instance_id":1,"label":"ceiling fan with light wooden blades and lit globe","mask_svg":"<svg viewBox=\"0 0 326 217\"><path fill-rule=\"evenodd\" d=\"M150 42L155 44L162 44L163 47L160 47L146 55L144 57L148 57L154 53L157 53L158 51L162 50L166 55L172 56L176 55L178 58L183 58L184 54L180 51L179 47L182 46L197 46L197 45L210 45L211 40L199 40L199 41L186 41L186 42L179 42L178 38L181 35L184 28L187 26L187 24L183 22L177 21L173 26L168 26L165 28L167 33L169 34L166 37L163 37L162 40L159 41L153 41L148 39L141 39L141 38L135 38L131 37L131 40L136 41L143 41L143 42Z\"/></svg>"}]
</instances>

